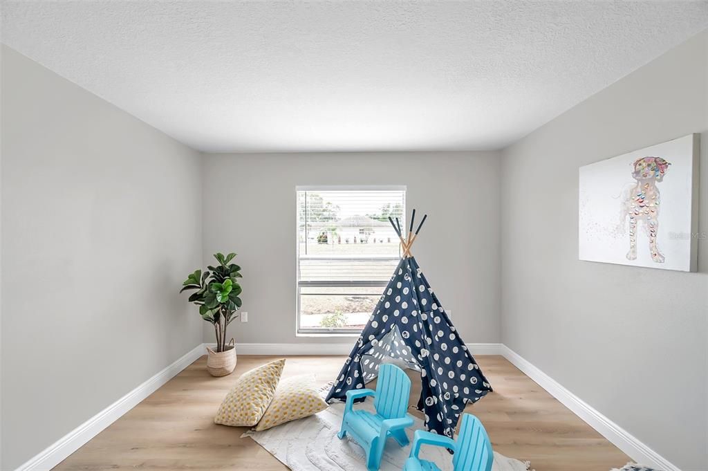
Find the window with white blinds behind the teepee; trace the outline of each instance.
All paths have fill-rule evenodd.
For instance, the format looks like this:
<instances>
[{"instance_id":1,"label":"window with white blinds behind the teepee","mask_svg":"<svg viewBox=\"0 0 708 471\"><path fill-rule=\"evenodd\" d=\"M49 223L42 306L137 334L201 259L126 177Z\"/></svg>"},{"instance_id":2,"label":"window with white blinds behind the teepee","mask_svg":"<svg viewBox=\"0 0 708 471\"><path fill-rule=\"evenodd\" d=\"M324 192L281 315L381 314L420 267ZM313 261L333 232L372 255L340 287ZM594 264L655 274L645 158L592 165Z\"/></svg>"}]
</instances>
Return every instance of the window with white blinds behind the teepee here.
<instances>
[{"instance_id":1,"label":"window with white blinds behind the teepee","mask_svg":"<svg viewBox=\"0 0 708 471\"><path fill-rule=\"evenodd\" d=\"M400 260L406 188L297 188L297 331L358 334Z\"/></svg>"}]
</instances>

